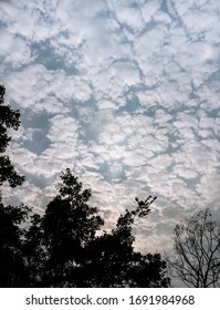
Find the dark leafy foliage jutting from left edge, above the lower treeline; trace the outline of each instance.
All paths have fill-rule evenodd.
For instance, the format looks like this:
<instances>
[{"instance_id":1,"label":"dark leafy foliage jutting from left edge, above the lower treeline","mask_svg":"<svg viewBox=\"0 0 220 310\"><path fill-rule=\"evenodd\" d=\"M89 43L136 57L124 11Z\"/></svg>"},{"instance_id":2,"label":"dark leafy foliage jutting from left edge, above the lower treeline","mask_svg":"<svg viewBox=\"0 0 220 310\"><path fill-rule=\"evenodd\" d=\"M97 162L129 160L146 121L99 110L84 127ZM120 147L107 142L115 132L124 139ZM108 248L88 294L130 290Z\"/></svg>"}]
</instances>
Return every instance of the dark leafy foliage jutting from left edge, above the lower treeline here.
<instances>
[{"instance_id":1,"label":"dark leafy foliage jutting from left edge, above the lower treeline","mask_svg":"<svg viewBox=\"0 0 220 310\"><path fill-rule=\"evenodd\" d=\"M6 152L11 137L8 135L8 128L18 131L20 126L20 113L19 111L12 110L9 105L4 104L6 87L0 85L0 154ZM23 176L20 176L9 156L0 156L0 186L8 180L11 187L21 185L24 180Z\"/></svg>"}]
</instances>

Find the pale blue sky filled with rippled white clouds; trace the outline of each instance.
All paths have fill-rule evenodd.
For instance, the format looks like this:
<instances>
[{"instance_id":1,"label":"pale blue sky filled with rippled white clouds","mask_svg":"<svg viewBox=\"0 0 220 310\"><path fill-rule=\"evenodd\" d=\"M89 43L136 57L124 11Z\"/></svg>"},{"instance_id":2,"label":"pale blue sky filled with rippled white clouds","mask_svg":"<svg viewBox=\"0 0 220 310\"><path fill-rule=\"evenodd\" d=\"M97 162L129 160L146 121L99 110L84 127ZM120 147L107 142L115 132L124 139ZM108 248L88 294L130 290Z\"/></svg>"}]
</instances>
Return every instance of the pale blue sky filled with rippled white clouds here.
<instances>
[{"instance_id":1,"label":"pale blue sky filled with rippled white clouds","mask_svg":"<svg viewBox=\"0 0 220 310\"><path fill-rule=\"evenodd\" d=\"M8 149L41 213L70 168L111 228L157 196L135 247L169 250L205 207L220 215L220 2L1 0L0 82L21 113Z\"/></svg>"}]
</instances>

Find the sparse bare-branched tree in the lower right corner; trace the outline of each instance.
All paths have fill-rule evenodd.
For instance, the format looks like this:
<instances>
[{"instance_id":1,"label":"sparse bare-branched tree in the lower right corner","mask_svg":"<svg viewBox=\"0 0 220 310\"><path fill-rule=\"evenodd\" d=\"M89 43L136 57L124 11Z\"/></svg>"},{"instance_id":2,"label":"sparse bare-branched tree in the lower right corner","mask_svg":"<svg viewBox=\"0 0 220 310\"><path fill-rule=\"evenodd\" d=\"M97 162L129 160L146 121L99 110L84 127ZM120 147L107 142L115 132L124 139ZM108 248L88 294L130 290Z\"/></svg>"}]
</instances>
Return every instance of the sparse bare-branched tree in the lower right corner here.
<instances>
[{"instance_id":1,"label":"sparse bare-branched tree in the lower right corner","mask_svg":"<svg viewBox=\"0 0 220 310\"><path fill-rule=\"evenodd\" d=\"M172 277L187 287L220 286L220 223L209 208L176 225L174 249L175 259L167 258Z\"/></svg>"}]
</instances>

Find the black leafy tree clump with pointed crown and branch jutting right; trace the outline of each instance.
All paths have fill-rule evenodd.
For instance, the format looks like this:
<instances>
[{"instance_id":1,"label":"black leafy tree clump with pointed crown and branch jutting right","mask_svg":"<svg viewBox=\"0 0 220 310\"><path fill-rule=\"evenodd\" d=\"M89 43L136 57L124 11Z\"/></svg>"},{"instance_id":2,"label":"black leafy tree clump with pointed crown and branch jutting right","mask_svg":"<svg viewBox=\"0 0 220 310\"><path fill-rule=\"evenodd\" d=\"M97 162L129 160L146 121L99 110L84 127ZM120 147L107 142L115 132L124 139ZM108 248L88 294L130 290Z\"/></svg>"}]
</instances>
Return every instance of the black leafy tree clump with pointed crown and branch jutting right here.
<instances>
[{"instance_id":1,"label":"black leafy tree clump with pointed crown and branch jutting right","mask_svg":"<svg viewBox=\"0 0 220 310\"><path fill-rule=\"evenodd\" d=\"M160 255L135 252L132 228L146 217L155 198L136 198L135 210L121 215L111 232L88 206L90 189L83 189L70 169L61 174L59 195L45 214L33 215L25 237L24 257L32 287L168 287L166 262ZM99 234L97 236L97 231Z\"/></svg>"}]
</instances>

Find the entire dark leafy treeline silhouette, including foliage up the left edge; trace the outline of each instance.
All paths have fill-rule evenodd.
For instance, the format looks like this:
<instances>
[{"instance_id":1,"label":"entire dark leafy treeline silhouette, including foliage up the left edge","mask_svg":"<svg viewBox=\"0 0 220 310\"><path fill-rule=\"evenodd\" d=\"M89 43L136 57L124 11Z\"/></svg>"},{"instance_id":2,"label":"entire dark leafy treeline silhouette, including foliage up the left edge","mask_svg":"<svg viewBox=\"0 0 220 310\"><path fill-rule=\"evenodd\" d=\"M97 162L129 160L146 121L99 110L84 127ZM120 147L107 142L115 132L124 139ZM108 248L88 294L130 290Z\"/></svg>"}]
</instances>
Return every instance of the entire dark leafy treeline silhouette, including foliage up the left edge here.
<instances>
[{"instance_id":1,"label":"entire dark leafy treeline silhouette, including foliage up the left edge","mask_svg":"<svg viewBox=\"0 0 220 310\"><path fill-rule=\"evenodd\" d=\"M22 185L6 148L18 130L20 113L4 104L0 86L0 186ZM61 173L57 195L43 215L24 205L4 206L0 192L0 287L169 287L166 261L159 254L134 250L132 227L147 217L156 197L136 198L111 232L88 200L91 190L70 169ZM99 234L96 234L99 232Z\"/></svg>"}]
</instances>

